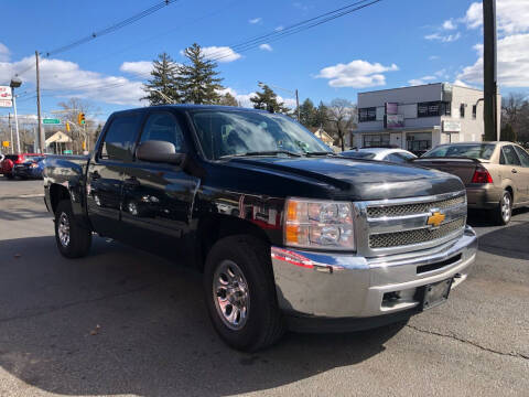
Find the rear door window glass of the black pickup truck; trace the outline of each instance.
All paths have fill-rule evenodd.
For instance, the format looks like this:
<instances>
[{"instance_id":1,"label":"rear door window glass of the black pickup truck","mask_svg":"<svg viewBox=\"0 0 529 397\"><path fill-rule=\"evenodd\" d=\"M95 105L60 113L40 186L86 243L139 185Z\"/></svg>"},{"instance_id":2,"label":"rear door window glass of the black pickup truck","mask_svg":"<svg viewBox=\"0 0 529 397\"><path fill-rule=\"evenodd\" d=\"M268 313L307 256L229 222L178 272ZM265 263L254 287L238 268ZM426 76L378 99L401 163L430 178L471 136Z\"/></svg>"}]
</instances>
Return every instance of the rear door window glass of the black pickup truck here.
<instances>
[{"instance_id":1,"label":"rear door window glass of the black pickup truck","mask_svg":"<svg viewBox=\"0 0 529 397\"><path fill-rule=\"evenodd\" d=\"M140 119L138 112L116 116L105 135L99 158L131 161Z\"/></svg>"}]
</instances>

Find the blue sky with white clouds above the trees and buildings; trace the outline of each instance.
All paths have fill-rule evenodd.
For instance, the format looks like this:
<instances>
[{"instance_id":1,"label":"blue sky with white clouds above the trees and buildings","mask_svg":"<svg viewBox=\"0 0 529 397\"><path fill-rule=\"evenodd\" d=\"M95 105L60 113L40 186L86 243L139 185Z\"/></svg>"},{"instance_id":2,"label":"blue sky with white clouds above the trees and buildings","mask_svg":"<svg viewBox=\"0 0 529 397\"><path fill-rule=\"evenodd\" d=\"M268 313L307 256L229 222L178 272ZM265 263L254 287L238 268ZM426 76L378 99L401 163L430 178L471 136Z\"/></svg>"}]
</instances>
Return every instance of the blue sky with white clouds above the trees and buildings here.
<instances>
[{"instance_id":1,"label":"blue sky with white clouds above the trees and buildings","mask_svg":"<svg viewBox=\"0 0 529 397\"><path fill-rule=\"evenodd\" d=\"M300 90L303 100L330 101L370 89L451 82L479 87L483 78L481 1L384 0L311 30L237 44L352 3L349 0L180 0L111 34L58 54L47 52L100 31L155 1L4 1L0 85L20 74L19 111L35 112L34 52L41 52L43 111L68 97L89 99L100 118L143 106L142 82L166 51L183 62L193 42L218 60L224 85L244 104L257 82ZM497 0L501 92L529 94L529 3ZM240 47L239 47L240 49ZM292 105L289 92L278 90ZM0 108L0 115L10 109Z\"/></svg>"}]
</instances>

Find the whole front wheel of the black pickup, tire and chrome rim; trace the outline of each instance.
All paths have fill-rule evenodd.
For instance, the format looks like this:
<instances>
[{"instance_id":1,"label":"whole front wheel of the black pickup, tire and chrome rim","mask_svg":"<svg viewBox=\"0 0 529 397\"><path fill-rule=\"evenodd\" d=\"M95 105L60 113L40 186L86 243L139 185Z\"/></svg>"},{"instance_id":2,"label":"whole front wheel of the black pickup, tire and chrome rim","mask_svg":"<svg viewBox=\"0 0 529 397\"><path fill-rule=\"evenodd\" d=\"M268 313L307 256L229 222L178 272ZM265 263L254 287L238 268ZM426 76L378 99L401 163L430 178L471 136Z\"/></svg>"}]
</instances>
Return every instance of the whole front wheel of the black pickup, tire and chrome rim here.
<instances>
[{"instance_id":1,"label":"whole front wheel of the black pickup, tire and chrome rim","mask_svg":"<svg viewBox=\"0 0 529 397\"><path fill-rule=\"evenodd\" d=\"M282 335L268 244L246 235L225 237L213 246L204 270L209 316L228 345L253 352Z\"/></svg>"}]
</instances>

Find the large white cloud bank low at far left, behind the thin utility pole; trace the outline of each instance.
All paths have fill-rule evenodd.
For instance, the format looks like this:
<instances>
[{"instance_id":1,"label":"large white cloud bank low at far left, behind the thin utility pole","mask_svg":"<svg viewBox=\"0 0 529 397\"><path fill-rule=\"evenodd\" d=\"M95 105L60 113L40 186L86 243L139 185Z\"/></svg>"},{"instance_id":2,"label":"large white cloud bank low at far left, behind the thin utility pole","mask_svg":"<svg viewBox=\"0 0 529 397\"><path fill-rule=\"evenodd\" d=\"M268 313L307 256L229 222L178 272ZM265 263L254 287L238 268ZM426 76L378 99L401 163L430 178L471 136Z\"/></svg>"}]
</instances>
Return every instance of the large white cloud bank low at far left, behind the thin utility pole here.
<instances>
[{"instance_id":1,"label":"large white cloud bank low at far left, behind the thin utility pole","mask_svg":"<svg viewBox=\"0 0 529 397\"><path fill-rule=\"evenodd\" d=\"M23 88L35 84L35 57L0 63L0 81L8 81L20 71ZM133 82L122 76L107 76L97 72L85 71L78 64L62 60L42 58L41 88L43 95L57 97L80 97L115 105L141 105L144 96L141 82Z\"/></svg>"}]
</instances>

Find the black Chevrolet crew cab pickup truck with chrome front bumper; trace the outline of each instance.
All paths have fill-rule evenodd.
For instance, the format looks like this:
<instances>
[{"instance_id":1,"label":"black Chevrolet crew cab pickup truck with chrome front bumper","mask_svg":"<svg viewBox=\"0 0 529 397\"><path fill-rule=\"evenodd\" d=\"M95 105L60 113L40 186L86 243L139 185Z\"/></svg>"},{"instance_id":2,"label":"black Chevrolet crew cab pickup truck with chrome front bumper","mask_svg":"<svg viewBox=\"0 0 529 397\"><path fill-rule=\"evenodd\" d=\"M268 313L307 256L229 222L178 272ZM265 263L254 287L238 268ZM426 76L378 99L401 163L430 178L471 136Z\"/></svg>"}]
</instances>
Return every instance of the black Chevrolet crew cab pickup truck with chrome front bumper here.
<instances>
[{"instance_id":1,"label":"black Chevrolet crew cab pickup truck with chrome front bumper","mask_svg":"<svg viewBox=\"0 0 529 397\"><path fill-rule=\"evenodd\" d=\"M343 158L261 110L115 112L89 157L47 159L44 187L64 256L96 233L195 266L215 329L244 351L285 329L406 321L476 256L458 178Z\"/></svg>"}]
</instances>

